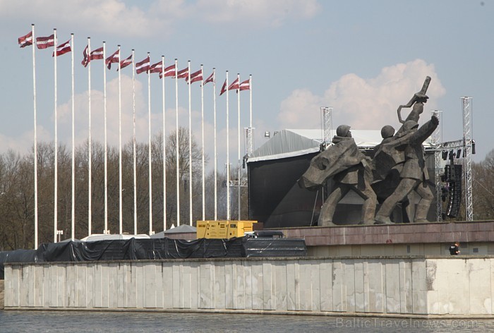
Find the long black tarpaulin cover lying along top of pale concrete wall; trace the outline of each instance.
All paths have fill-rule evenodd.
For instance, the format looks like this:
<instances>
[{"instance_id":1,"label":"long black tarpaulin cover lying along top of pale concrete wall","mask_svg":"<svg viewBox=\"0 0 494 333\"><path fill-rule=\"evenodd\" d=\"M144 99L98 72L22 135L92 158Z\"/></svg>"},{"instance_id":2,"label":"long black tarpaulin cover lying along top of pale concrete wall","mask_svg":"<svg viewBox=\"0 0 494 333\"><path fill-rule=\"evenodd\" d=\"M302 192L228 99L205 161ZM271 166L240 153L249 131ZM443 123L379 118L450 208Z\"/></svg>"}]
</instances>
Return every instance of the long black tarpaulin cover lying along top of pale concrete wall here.
<instances>
[{"instance_id":1,"label":"long black tarpaulin cover lying along top of pale concrete wall","mask_svg":"<svg viewBox=\"0 0 494 333\"><path fill-rule=\"evenodd\" d=\"M303 239L265 237L200 238L193 241L171 238L131 238L43 243L37 250L0 252L0 279L4 279L4 262L303 257L306 252Z\"/></svg>"}]
</instances>

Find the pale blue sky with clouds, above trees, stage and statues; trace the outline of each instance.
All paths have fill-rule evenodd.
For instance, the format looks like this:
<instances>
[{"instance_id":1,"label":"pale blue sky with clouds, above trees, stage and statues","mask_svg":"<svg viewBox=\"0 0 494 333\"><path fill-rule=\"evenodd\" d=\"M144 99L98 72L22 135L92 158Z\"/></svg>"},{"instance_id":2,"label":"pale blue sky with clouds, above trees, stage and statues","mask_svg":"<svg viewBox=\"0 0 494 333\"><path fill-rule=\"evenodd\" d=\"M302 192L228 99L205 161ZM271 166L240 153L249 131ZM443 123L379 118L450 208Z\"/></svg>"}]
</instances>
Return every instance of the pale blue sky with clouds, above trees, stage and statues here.
<instances>
[{"instance_id":1,"label":"pale blue sky with clouds, above trees, stage and statues","mask_svg":"<svg viewBox=\"0 0 494 333\"><path fill-rule=\"evenodd\" d=\"M32 54L18 37L35 23L37 36L57 29L59 44L75 36L76 142L88 137L88 70L80 65L91 37L92 49L106 42L107 55L121 44L121 56L151 54L217 68L217 95L226 71L229 81L253 75L255 146L264 131L320 128L320 107L334 108L333 123L355 129L397 128L397 107L432 78L426 110L442 110L442 138L462 138L462 96L473 97L474 161L494 148L494 1L317 1L317 0L0 0L1 152L21 154L32 145ZM38 137L54 140L52 49L37 50ZM59 56L59 141L71 145L71 54ZM104 140L103 62L92 62L92 136ZM138 140L147 142L147 76L136 76ZM165 81L167 134L175 128L174 80ZM162 93L151 78L152 133L161 131ZM107 71L108 140L118 144L116 71ZM131 139L131 68L122 71L123 142ZM200 85L191 87L193 133L200 141ZM212 86L204 88L206 151L212 156ZM229 94L231 156L237 155L237 95ZM241 92L241 127L248 126L249 94ZM217 96L218 148L224 156L226 99ZM179 123L188 126L188 88L179 82ZM422 120L428 118L424 114ZM241 144L243 155L243 143ZM223 161L224 162L224 161ZM222 163L219 161L219 163ZM210 163L210 165L212 162Z\"/></svg>"}]
</instances>

